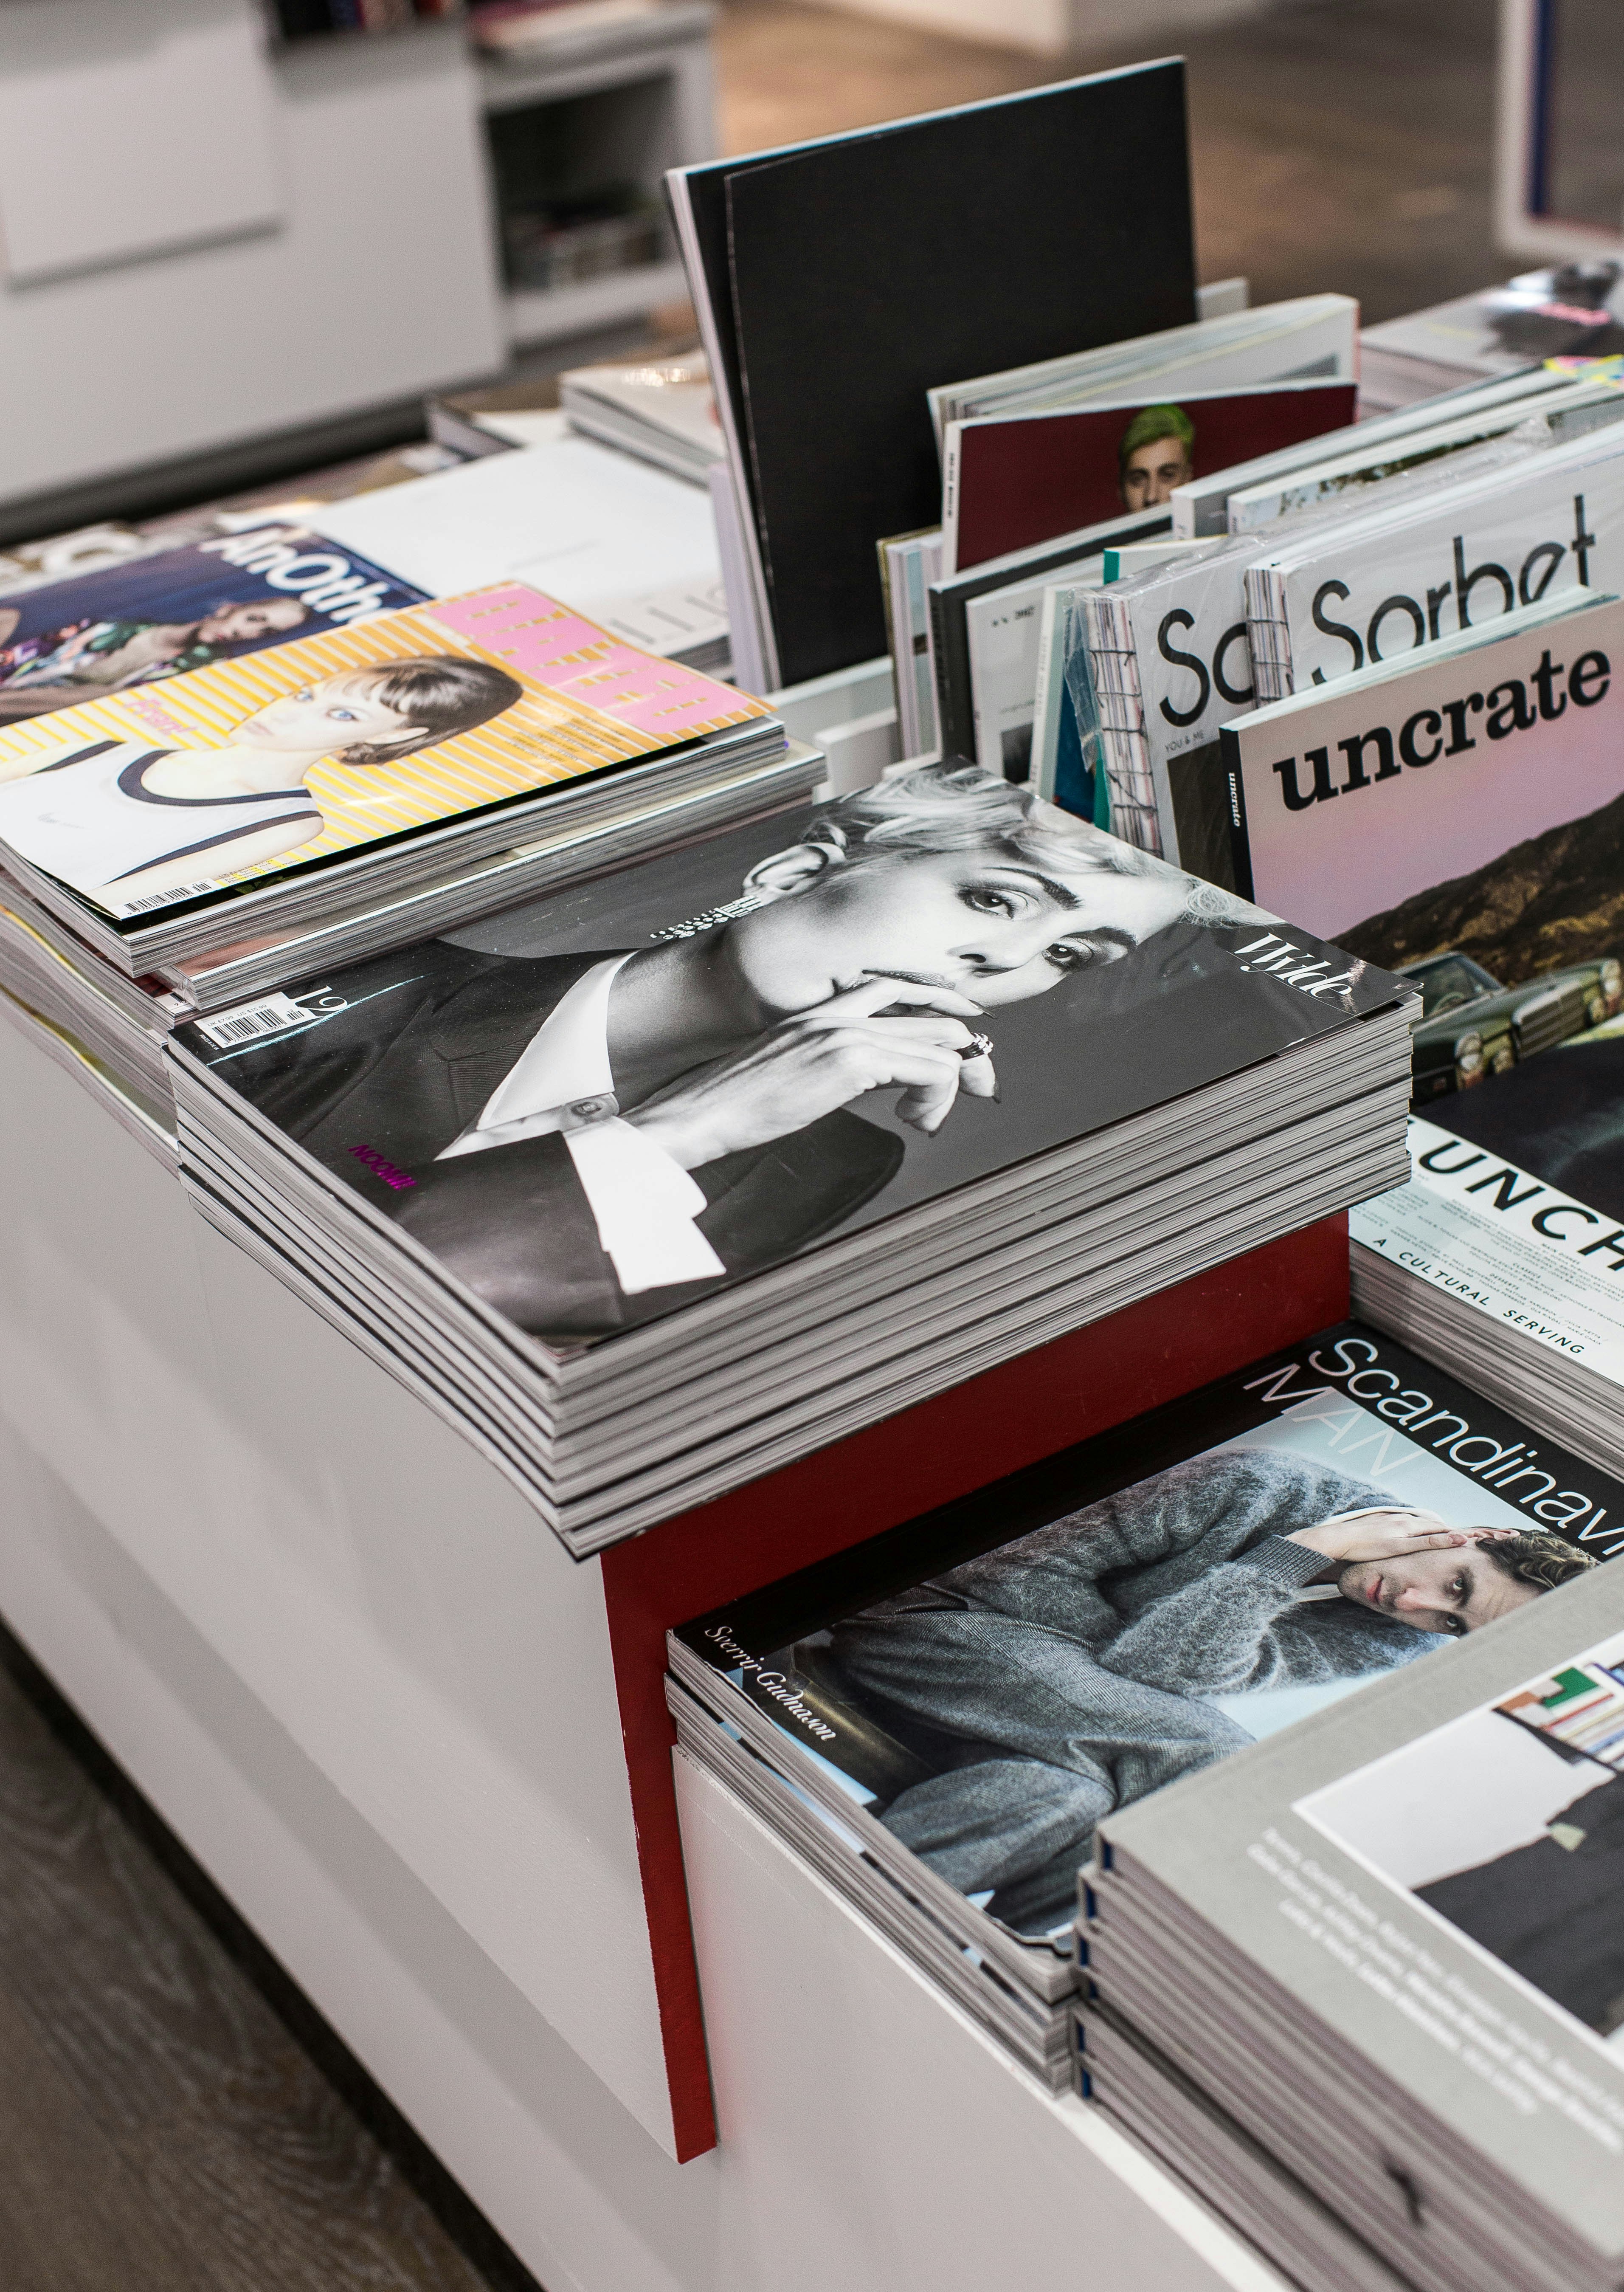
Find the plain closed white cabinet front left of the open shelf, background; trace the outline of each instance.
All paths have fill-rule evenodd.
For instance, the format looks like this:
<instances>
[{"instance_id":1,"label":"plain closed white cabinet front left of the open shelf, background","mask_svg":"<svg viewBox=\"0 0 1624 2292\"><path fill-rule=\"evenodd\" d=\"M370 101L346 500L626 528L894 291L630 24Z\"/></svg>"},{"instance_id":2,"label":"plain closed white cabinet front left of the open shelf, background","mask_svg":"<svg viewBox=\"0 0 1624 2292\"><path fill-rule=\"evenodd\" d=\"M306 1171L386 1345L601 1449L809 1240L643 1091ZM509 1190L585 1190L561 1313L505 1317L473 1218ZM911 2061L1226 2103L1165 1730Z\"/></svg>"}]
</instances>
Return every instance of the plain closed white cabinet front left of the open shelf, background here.
<instances>
[{"instance_id":1,"label":"plain closed white cabinet front left of the open shelf, background","mask_svg":"<svg viewBox=\"0 0 1624 2292\"><path fill-rule=\"evenodd\" d=\"M334 458L506 358L458 21L270 46L254 0L0 0L0 539L163 465L243 484L268 435Z\"/></svg>"}]
</instances>

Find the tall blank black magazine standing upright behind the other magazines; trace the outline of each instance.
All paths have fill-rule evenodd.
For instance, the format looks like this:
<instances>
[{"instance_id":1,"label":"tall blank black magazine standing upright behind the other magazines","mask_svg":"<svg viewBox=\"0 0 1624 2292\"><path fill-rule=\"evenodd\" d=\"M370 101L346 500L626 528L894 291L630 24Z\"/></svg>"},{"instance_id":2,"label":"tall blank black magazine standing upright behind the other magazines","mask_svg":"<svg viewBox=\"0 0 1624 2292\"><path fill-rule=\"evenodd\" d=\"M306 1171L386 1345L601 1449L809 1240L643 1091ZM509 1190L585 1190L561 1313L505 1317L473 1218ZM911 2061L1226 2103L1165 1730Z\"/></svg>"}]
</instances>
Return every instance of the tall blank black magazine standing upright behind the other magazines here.
<instances>
[{"instance_id":1,"label":"tall blank black magazine standing upright behind the other magazines","mask_svg":"<svg viewBox=\"0 0 1624 2292\"><path fill-rule=\"evenodd\" d=\"M1086 193L1129 176L1120 209ZM886 649L875 541L941 507L928 390L1196 316L1182 62L676 170L671 190L779 685Z\"/></svg>"}]
</instances>

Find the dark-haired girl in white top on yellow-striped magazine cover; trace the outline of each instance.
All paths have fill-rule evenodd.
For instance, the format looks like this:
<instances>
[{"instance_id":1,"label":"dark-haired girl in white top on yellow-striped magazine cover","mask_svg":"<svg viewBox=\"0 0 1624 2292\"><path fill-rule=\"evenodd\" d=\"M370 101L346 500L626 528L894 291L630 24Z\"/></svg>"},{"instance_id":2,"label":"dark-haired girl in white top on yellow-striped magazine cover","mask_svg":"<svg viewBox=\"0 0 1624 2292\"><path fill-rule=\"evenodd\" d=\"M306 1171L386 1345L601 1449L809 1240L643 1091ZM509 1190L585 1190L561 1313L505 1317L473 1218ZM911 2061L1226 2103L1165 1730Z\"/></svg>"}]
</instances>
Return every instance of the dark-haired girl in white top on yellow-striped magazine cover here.
<instances>
[{"instance_id":1,"label":"dark-haired girl in white top on yellow-striped magazine cover","mask_svg":"<svg viewBox=\"0 0 1624 2292\"><path fill-rule=\"evenodd\" d=\"M399 763L522 694L492 662L433 653L286 692L227 747L92 740L25 756L0 788L0 839L112 915L158 908L312 843L325 827L305 786L318 763Z\"/></svg>"}]
</instances>

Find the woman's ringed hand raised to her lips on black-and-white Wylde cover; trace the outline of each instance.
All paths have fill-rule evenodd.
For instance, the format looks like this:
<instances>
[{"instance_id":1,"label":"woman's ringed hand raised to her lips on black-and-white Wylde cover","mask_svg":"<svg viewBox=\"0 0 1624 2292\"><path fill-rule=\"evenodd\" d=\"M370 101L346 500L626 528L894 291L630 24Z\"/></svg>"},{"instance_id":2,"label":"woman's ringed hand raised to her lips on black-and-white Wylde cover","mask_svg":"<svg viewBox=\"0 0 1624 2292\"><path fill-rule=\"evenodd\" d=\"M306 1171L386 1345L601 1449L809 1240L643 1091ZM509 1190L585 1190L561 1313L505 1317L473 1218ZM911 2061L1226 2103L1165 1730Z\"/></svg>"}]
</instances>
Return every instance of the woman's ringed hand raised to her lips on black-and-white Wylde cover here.
<instances>
[{"instance_id":1,"label":"woman's ringed hand raised to her lips on black-and-white Wylde cover","mask_svg":"<svg viewBox=\"0 0 1624 2292\"><path fill-rule=\"evenodd\" d=\"M912 1004L919 1015L891 1015L893 1004ZM960 1091L999 1093L992 1059L962 1057L976 1050L964 1020L980 1015L951 988L866 979L781 1020L749 1050L683 1075L625 1121L683 1169L699 1169L790 1137L864 1091L900 1086L898 1116L932 1137Z\"/></svg>"}]
</instances>

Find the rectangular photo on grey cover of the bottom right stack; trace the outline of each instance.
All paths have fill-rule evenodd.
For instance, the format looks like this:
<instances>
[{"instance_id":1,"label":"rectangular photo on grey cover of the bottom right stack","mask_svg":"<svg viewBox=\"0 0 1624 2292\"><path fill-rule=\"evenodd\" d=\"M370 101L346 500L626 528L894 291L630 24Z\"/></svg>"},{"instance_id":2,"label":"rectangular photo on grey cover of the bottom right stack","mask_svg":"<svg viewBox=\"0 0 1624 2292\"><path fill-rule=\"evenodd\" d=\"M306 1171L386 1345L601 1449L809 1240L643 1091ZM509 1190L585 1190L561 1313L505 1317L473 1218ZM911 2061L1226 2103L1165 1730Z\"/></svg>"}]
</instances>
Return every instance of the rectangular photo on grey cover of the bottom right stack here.
<instances>
[{"instance_id":1,"label":"rectangular photo on grey cover of the bottom right stack","mask_svg":"<svg viewBox=\"0 0 1624 2292\"><path fill-rule=\"evenodd\" d=\"M1294 1813L1624 2051L1624 1634Z\"/></svg>"}]
</instances>

